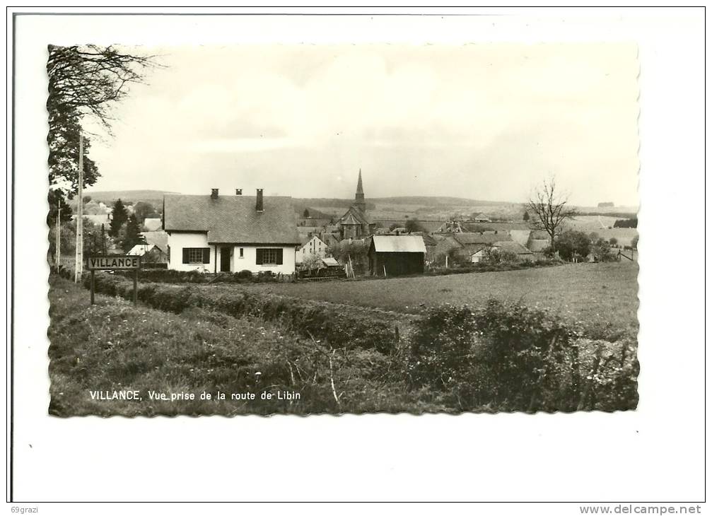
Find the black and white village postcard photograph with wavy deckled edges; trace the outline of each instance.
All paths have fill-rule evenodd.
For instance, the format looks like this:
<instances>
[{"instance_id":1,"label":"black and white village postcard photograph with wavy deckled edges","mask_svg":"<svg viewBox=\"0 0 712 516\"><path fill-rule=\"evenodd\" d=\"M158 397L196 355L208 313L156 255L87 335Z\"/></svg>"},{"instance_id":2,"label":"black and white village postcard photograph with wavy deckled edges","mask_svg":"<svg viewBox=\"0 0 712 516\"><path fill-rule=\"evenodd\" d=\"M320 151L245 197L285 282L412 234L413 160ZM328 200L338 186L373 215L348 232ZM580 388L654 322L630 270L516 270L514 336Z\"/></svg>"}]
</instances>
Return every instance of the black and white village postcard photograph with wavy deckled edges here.
<instances>
[{"instance_id":1,"label":"black and white village postcard photograph with wavy deckled edges","mask_svg":"<svg viewBox=\"0 0 712 516\"><path fill-rule=\"evenodd\" d=\"M53 416L636 408L634 45L47 72Z\"/></svg>"}]
</instances>

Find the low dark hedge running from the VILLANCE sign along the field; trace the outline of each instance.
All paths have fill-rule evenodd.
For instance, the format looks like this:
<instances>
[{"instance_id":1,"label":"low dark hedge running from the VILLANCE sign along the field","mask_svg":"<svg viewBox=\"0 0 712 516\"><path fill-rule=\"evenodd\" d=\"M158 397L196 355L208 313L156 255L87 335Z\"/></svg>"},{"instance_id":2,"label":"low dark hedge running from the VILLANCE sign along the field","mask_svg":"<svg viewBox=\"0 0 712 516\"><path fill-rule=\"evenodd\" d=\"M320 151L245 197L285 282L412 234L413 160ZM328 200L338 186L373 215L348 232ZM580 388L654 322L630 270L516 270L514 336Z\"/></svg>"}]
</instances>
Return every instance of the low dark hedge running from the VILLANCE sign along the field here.
<instances>
[{"instance_id":1,"label":"low dark hedge running from the VILLANCE sign along the field","mask_svg":"<svg viewBox=\"0 0 712 516\"><path fill-rule=\"evenodd\" d=\"M84 278L84 285L89 286L89 278ZM97 274L95 291L131 299L133 283L119 275ZM139 283L137 295L159 310L180 313L189 307L204 307L238 317L261 317L282 322L301 335L328 341L333 347L360 347L384 353L392 352L399 341L397 325L412 320L383 310L195 285Z\"/></svg>"}]
</instances>

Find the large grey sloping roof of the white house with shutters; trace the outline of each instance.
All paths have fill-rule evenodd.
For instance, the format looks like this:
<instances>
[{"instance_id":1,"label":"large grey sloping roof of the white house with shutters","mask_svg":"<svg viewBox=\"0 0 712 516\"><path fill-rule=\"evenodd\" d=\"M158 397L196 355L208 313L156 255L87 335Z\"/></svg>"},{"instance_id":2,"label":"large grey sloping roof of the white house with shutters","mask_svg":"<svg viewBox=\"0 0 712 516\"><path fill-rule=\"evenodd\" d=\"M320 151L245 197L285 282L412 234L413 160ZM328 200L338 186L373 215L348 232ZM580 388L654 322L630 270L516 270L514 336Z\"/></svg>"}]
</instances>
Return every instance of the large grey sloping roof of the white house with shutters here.
<instances>
[{"instance_id":1,"label":"large grey sloping roof of the white house with shutters","mask_svg":"<svg viewBox=\"0 0 712 516\"><path fill-rule=\"evenodd\" d=\"M166 195L166 231L208 233L209 243L300 243L291 197L263 198L264 211L256 210L256 197L247 195Z\"/></svg>"}]
</instances>

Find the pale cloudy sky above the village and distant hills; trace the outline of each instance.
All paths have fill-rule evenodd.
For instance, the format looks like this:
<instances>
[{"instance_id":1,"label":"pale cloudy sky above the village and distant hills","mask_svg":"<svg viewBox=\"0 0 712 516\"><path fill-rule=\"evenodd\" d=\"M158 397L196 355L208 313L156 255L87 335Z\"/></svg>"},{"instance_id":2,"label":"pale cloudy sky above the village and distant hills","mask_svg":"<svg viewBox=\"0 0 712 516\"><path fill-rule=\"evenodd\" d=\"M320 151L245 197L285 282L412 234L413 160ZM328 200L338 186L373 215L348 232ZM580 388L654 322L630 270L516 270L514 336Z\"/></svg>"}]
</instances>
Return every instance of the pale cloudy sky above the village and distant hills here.
<instances>
[{"instance_id":1,"label":"pale cloudy sky above the village and distant hills","mask_svg":"<svg viewBox=\"0 0 712 516\"><path fill-rule=\"evenodd\" d=\"M361 169L367 199L524 202L553 176L572 204L638 204L632 45L132 51L163 67L92 139L94 191L352 198Z\"/></svg>"}]
</instances>

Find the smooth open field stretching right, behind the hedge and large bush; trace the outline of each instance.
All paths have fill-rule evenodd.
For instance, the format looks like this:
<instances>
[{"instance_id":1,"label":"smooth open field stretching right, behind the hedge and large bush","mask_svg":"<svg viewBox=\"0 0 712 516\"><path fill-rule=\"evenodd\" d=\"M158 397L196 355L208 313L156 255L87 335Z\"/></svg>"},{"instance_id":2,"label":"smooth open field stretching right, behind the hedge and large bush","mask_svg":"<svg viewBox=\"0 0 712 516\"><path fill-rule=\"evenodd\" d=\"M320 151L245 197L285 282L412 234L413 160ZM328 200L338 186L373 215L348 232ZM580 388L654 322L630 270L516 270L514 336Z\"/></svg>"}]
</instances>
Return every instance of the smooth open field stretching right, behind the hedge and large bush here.
<instances>
[{"instance_id":1,"label":"smooth open field stretching right, behind the hedge and large bush","mask_svg":"<svg viewBox=\"0 0 712 516\"><path fill-rule=\"evenodd\" d=\"M612 330L635 337L637 276L637 263L577 263L495 273L202 288L250 288L407 313L421 313L427 307L446 302L481 306L488 298L523 300L527 305L559 313L592 335Z\"/></svg>"}]
</instances>

